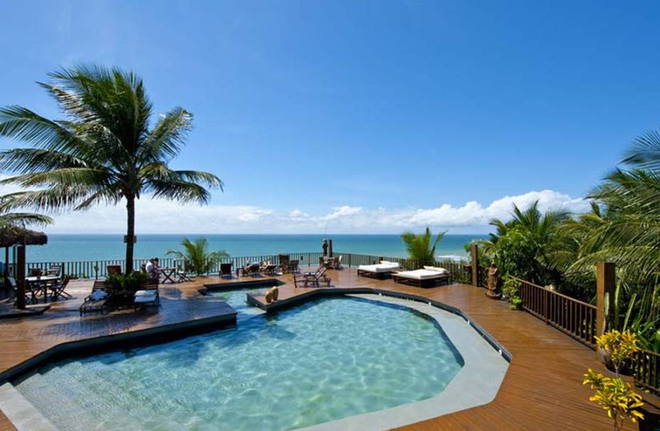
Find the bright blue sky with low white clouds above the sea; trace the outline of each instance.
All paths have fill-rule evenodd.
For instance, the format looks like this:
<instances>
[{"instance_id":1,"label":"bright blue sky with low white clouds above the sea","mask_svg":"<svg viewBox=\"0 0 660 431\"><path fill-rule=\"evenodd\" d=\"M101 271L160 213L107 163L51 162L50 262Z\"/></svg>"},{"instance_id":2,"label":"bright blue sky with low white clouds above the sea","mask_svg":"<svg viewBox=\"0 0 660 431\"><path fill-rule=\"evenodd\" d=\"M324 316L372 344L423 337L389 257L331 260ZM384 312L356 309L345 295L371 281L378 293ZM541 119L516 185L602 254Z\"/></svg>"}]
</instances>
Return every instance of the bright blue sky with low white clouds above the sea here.
<instances>
[{"instance_id":1,"label":"bright blue sky with low white clouds above the sea","mask_svg":"<svg viewBox=\"0 0 660 431\"><path fill-rule=\"evenodd\" d=\"M34 82L99 62L138 72L157 111L195 114L172 164L225 192L188 218L145 204L139 231L487 231L511 202L582 209L659 124L655 1L23 1L3 16L0 105L55 117ZM121 214L50 231L122 231Z\"/></svg>"}]
</instances>

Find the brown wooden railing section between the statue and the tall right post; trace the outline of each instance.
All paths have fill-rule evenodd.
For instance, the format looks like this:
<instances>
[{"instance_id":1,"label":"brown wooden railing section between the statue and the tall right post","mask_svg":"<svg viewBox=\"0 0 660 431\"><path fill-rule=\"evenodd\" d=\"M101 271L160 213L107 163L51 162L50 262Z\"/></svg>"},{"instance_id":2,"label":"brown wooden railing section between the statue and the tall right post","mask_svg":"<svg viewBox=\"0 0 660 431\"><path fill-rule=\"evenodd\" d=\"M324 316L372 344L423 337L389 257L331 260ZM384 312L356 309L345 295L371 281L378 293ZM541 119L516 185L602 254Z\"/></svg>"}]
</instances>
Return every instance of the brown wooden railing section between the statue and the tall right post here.
<instances>
[{"instance_id":1,"label":"brown wooden railing section between the statue and the tall right post","mask_svg":"<svg viewBox=\"0 0 660 431\"><path fill-rule=\"evenodd\" d=\"M513 279L519 283L518 296L523 300L523 310L587 346L595 347L595 305L570 298L521 278L513 277Z\"/></svg>"}]
</instances>

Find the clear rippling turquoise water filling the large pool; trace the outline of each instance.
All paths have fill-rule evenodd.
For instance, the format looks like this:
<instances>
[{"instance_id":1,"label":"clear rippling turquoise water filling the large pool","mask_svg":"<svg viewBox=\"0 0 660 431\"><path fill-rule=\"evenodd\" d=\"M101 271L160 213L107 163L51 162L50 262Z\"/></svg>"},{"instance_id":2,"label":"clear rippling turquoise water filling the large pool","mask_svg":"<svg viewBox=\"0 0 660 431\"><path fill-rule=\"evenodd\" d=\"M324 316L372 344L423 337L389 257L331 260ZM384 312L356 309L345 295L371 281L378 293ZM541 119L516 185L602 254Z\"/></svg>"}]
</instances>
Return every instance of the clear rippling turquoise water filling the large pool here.
<instances>
[{"instance_id":1,"label":"clear rippling turquoise water filling the large pool","mask_svg":"<svg viewBox=\"0 0 660 431\"><path fill-rule=\"evenodd\" d=\"M14 384L62 430L290 430L433 397L462 364L434 320L338 297Z\"/></svg>"}]
</instances>

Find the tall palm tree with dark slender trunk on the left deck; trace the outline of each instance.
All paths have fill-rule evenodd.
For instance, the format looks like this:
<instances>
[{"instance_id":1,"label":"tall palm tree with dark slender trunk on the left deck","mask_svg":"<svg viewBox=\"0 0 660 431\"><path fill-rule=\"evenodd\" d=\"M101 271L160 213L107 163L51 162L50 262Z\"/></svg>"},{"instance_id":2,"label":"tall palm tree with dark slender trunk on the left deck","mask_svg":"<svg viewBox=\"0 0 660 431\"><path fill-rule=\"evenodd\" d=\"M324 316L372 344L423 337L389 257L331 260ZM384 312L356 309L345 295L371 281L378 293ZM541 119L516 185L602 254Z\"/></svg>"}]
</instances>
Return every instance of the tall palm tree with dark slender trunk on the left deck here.
<instances>
[{"instance_id":1,"label":"tall palm tree with dark slender trunk on the left deck","mask_svg":"<svg viewBox=\"0 0 660 431\"><path fill-rule=\"evenodd\" d=\"M132 271L135 202L142 195L208 202L205 187L220 187L211 173L172 170L191 129L192 114L177 107L151 126L152 107L134 72L78 66L39 83L66 116L50 120L18 106L0 109L0 136L31 143L0 153L0 169L18 175L4 180L43 187L18 204L37 209L86 209L124 201L127 212L126 271Z\"/></svg>"}]
</instances>

